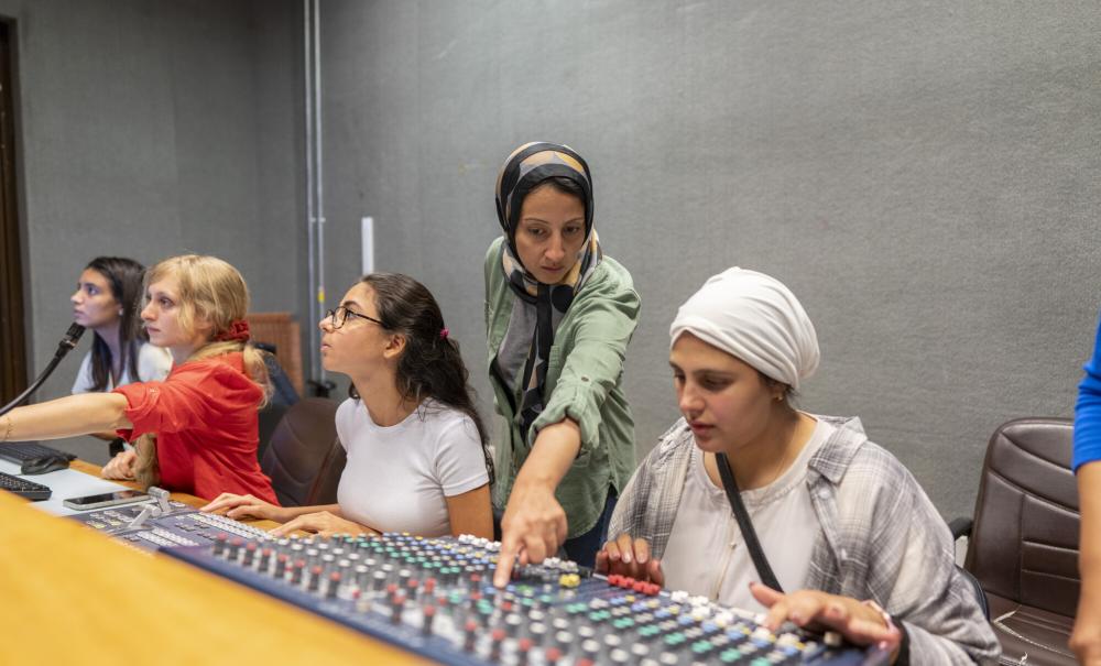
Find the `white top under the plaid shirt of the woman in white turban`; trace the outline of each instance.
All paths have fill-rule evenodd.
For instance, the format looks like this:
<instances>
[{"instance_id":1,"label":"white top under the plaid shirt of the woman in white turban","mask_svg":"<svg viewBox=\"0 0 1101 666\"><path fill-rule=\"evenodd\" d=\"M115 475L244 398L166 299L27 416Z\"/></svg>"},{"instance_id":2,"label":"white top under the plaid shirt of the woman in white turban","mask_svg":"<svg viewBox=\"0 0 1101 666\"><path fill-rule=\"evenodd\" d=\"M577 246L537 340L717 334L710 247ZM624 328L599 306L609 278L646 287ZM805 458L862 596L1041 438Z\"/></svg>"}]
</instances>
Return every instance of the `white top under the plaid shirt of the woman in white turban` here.
<instances>
[{"instance_id":1,"label":"white top under the plaid shirt of the woman in white turban","mask_svg":"<svg viewBox=\"0 0 1101 666\"><path fill-rule=\"evenodd\" d=\"M780 478L741 493L761 549L787 592L803 588L815 541L821 532L807 488L807 462L832 433L833 426L819 421L798 457ZM750 581L760 581L761 577L726 491L707 476L699 447L693 447L662 570L667 589L686 590L751 611L766 610L750 593Z\"/></svg>"}]
</instances>

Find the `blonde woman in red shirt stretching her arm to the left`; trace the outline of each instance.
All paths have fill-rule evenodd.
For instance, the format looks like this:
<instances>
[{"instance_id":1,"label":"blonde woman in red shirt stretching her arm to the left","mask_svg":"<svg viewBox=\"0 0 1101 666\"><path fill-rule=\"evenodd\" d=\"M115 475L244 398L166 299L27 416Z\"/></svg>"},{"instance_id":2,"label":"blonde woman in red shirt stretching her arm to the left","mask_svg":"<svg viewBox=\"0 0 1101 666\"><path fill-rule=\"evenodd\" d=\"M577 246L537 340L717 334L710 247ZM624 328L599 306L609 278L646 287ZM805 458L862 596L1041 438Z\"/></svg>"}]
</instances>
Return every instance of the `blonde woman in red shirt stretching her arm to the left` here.
<instances>
[{"instance_id":1,"label":"blonde woman in red shirt stretching her arm to the left","mask_svg":"<svg viewBox=\"0 0 1101 666\"><path fill-rule=\"evenodd\" d=\"M257 461L257 411L271 389L262 352L249 343L244 279L220 259L186 254L153 266L144 284L141 318L150 341L172 353L168 376L19 407L0 418L0 441L113 429L137 450L103 468L109 479L276 502Z\"/></svg>"}]
</instances>

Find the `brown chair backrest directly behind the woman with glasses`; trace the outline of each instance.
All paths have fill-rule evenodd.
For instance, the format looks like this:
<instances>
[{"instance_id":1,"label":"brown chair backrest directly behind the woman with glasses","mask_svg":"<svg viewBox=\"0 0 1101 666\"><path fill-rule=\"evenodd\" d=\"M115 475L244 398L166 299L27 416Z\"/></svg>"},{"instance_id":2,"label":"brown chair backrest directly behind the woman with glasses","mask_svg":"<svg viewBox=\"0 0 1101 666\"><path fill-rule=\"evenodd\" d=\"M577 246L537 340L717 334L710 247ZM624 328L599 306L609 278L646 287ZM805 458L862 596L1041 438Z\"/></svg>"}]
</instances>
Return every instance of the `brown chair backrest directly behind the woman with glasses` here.
<instances>
[{"instance_id":1,"label":"brown chair backrest directly behind the woman with glasses","mask_svg":"<svg viewBox=\"0 0 1101 666\"><path fill-rule=\"evenodd\" d=\"M339 403L305 397L292 405L272 434L260 467L284 506L335 504L345 450L337 439Z\"/></svg>"}]
</instances>

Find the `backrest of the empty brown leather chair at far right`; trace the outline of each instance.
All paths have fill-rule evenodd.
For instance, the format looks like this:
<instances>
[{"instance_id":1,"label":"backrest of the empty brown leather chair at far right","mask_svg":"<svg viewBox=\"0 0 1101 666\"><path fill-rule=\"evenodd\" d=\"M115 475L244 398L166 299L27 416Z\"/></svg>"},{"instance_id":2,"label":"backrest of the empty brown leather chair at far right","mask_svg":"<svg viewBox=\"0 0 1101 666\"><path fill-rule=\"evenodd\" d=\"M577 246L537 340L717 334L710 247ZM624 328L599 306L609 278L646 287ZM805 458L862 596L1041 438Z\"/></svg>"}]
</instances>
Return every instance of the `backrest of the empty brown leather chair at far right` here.
<instances>
[{"instance_id":1,"label":"backrest of the empty brown leather chair at far right","mask_svg":"<svg viewBox=\"0 0 1101 666\"><path fill-rule=\"evenodd\" d=\"M990 438L964 567L988 593L1060 615L1078 604L1073 422L1020 418Z\"/></svg>"}]
</instances>

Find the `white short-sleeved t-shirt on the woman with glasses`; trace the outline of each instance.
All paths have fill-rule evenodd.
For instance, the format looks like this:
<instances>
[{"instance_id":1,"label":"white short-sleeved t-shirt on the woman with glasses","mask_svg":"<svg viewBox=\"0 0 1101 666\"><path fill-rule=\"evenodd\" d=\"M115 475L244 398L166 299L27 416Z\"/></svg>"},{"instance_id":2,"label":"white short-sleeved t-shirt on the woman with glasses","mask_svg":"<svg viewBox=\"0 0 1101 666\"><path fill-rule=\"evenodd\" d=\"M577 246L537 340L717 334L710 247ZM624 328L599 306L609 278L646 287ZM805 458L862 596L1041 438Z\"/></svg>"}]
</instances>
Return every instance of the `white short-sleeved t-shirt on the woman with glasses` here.
<instances>
[{"instance_id":1,"label":"white short-sleeved t-shirt on the woman with glasses","mask_svg":"<svg viewBox=\"0 0 1101 666\"><path fill-rule=\"evenodd\" d=\"M350 521L380 532L446 536L451 524L445 498L489 483L473 421L436 401L382 427L362 402L348 398L336 421L348 451L337 502Z\"/></svg>"}]
</instances>

